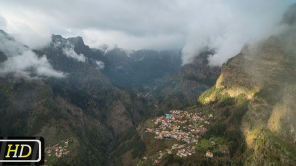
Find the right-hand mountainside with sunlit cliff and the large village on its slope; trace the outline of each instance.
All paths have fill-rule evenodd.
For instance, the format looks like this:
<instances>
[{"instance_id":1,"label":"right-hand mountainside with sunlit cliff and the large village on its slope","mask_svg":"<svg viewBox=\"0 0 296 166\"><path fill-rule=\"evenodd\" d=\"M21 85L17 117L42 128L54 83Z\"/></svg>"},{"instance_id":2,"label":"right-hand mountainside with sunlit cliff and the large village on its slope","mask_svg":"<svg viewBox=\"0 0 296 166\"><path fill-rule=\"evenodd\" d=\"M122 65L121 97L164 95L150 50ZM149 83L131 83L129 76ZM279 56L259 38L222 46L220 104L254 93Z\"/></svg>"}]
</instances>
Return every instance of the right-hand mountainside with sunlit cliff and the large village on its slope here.
<instances>
[{"instance_id":1,"label":"right-hand mountainside with sunlit cliff and the large village on its slope","mask_svg":"<svg viewBox=\"0 0 296 166\"><path fill-rule=\"evenodd\" d=\"M133 148L114 152L115 164L295 165L295 15L296 4L283 15L281 32L248 41L195 105L172 106L117 139L119 148L134 140L146 148L140 156Z\"/></svg>"}]
</instances>

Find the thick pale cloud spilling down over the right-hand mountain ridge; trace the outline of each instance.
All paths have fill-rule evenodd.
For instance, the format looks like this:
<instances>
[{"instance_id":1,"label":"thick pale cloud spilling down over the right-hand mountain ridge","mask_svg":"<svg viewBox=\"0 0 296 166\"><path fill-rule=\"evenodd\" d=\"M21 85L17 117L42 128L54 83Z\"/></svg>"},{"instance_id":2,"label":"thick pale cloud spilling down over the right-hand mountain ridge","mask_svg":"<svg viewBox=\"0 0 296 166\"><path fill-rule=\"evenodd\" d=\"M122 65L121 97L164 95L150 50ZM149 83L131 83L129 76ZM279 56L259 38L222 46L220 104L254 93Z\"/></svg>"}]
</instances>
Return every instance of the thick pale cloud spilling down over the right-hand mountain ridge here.
<instances>
[{"instance_id":1,"label":"thick pale cloud spilling down over the right-hand mountain ridge","mask_svg":"<svg viewBox=\"0 0 296 166\"><path fill-rule=\"evenodd\" d=\"M292 3L279 0L209 0L200 3L200 10L187 29L186 44L182 49L183 64L190 63L201 51L209 49L215 50L215 54L208 58L209 65L221 66L238 54L246 42L256 44L280 33L284 27L279 22Z\"/></svg>"}]
</instances>

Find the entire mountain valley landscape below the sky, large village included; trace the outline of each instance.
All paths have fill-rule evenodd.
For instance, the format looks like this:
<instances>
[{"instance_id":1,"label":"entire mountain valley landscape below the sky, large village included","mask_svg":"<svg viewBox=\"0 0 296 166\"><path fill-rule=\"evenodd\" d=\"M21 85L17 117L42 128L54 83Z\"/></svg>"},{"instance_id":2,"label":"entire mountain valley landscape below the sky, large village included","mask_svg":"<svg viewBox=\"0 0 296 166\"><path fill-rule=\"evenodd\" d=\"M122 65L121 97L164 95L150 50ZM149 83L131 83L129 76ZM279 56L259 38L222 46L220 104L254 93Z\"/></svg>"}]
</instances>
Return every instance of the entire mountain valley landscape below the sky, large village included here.
<instances>
[{"instance_id":1,"label":"entire mountain valley landscape below the sky, large village included","mask_svg":"<svg viewBox=\"0 0 296 166\"><path fill-rule=\"evenodd\" d=\"M295 11L222 68L210 50L181 66L179 50L32 50L1 30L0 135L43 136L49 165L296 165Z\"/></svg>"}]
</instances>

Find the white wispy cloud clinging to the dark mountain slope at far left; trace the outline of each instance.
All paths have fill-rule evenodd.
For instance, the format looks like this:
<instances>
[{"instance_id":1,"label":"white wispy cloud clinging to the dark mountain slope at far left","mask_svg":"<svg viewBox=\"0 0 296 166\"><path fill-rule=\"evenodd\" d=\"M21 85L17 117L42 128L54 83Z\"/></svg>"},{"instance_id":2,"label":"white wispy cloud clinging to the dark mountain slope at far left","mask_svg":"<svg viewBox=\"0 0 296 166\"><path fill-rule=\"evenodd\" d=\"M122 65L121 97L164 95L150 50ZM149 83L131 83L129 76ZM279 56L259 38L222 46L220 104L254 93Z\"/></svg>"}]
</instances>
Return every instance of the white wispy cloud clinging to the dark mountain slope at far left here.
<instances>
[{"instance_id":1,"label":"white wispy cloud clinging to the dark mountain slope at far left","mask_svg":"<svg viewBox=\"0 0 296 166\"><path fill-rule=\"evenodd\" d=\"M14 41L3 32L0 32L0 51L7 57L0 62L1 77L8 74L25 78L65 76L63 72L53 69L46 55L38 57L29 47Z\"/></svg>"}]
</instances>

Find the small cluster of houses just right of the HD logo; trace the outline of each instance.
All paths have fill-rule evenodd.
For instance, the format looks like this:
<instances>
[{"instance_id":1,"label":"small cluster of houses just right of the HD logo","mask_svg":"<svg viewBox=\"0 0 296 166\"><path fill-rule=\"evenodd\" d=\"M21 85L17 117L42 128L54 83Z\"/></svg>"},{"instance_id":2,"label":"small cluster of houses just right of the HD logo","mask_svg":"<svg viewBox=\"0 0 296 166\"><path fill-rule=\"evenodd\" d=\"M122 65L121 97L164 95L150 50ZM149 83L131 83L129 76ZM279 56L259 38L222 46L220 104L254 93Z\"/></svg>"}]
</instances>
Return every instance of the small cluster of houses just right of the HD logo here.
<instances>
[{"instance_id":1,"label":"small cluster of houses just right of the HD logo","mask_svg":"<svg viewBox=\"0 0 296 166\"><path fill-rule=\"evenodd\" d=\"M67 147L69 145L69 141L62 140L60 143L57 143L51 147L45 147L45 154L46 157L55 155L56 157L60 158L65 155L68 155L70 153L69 150L67 150ZM45 159L44 161L47 161Z\"/></svg>"}]
</instances>

